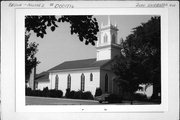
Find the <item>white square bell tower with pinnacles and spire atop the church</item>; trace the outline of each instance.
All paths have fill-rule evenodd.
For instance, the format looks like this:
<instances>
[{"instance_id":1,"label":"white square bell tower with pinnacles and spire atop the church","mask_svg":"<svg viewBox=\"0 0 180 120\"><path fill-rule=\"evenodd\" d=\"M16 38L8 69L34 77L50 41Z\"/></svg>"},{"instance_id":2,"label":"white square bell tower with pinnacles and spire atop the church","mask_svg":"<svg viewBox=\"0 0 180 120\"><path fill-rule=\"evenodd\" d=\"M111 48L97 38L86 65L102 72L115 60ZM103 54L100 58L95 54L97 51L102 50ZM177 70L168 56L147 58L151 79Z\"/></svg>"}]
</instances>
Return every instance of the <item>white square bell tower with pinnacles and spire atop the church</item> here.
<instances>
[{"instance_id":1,"label":"white square bell tower with pinnacles and spire atop the church","mask_svg":"<svg viewBox=\"0 0 180 120\"><path fill-rule=\"evenodd\" d=\"M96 60L112 59L120 52L118 44L118 28L117 25L112 25L110 16L108 16L108 24L101 24L100 37L96 45Z\"/></svg>"}]
</instances>

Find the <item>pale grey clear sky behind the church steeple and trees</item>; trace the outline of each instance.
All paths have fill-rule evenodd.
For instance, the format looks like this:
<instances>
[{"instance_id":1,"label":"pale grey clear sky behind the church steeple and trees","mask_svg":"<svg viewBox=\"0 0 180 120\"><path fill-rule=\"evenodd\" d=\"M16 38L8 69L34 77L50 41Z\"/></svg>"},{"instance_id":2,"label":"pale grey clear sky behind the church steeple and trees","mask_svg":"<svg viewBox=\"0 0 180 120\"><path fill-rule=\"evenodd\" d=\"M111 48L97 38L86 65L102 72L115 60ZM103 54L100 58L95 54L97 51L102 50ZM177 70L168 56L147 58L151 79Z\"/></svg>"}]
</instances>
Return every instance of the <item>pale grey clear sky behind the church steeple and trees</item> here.
<instances>
[{"instance_id":1,"label":"pale grey clear sky behind the church steeple and trees","mask_svg":"<svg viewBox=\"0 0 180 120\"><path fill-rule=\"evenodd\" d=\"M99 27L108 22L108 16L93 16L97 19ZM119 15L110 16L112 24L118 26L118 39L125 39L131 34L132 28L147 22L152 16L149 15ZM69 23L58 23L59 27L54 32L47 29L44 38L36 37L32 32L30 41L39 44L35 55L40 64L37 66L37 74L59 65L65 61L96 58L96 48L91 44L85 45L78 39L76 34L71 35ZM98 35L99 36L99 33Z\"/></svg>"}]
</instances>

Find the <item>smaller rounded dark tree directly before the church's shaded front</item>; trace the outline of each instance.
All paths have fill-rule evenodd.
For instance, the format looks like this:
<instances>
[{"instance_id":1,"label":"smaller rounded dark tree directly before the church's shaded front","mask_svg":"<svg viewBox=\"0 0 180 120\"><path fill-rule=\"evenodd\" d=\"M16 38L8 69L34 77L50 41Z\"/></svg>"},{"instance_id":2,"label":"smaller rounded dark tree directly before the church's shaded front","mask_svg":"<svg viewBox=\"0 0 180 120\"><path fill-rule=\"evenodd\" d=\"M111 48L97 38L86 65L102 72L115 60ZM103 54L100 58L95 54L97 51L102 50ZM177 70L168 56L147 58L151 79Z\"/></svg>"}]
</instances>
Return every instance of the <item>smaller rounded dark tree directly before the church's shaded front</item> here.
<instances>
[{"instance_id":1,"label":"smaller rounded dark tree directly before the church's shaded front","mask_svg":"<svg viewBox=\"0 0 180 120\"><path fill-rule=\"evenodd\" d=\"M139 79L138 75L136 73L136 69L138 66L138 63L132 59L133 54L124 55L120 54L119 56L116 56L113 64L112 64L112 70L115 73L116 82L117 85L122 87L123 91L129 91L131 94L131 103L133 101L133 93L139 88Z\"/></svg>"}]
</instances>

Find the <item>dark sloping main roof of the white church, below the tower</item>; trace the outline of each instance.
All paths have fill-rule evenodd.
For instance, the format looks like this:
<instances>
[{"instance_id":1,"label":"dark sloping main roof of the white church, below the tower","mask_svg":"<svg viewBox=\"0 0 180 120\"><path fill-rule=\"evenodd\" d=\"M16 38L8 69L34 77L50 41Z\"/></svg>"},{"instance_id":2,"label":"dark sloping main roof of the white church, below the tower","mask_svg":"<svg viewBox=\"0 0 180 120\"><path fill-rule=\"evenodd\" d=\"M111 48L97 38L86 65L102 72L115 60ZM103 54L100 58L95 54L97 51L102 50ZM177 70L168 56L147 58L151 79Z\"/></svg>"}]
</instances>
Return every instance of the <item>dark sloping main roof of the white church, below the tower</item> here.
<instances>
[{"instance_id":1,"label":"dark sloping main roof of the white church, below the tower","mask_svg":"<svg viewBox=\"0 0 180 120\"><path fill-rule=\"evenodd\" d=\"M74 70L74 69L82 69L82 68L97 68L106 64L110 60L101 60L96 61L96 58L93 59L84 59L84 60L75 60L75 61L67 61L59 64L48 71L58 71L58 70Z\"/></svg>"}]
</instances>

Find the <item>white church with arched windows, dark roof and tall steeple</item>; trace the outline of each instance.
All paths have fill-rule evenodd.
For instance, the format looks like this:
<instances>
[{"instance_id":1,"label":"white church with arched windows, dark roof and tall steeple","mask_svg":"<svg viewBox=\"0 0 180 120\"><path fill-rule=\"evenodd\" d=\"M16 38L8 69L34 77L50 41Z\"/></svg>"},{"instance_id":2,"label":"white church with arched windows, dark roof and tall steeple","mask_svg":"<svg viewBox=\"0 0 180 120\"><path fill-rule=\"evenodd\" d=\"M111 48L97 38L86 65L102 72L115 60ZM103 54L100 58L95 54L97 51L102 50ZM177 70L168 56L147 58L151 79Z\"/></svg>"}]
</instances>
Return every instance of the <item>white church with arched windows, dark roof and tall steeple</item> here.
<instances>
[{"instance_id":1,"label":"white church with arched windows, dark roof and tall steeple","mask_svg":"<svg viewBox=\"0 0 180 120\"><path fill-rule=\"evenodd\" d=\"M49 89L66 89L90 91L95 94L96 88L103 93L118 93L115 75L111 70L112 59L120 52L118 28L110 19L107 25L101 25L100 37L96 43L96 58L63 62L50 70L36 76L30 81L32 89L48 87Z\"/></svg>"}]
</instances>

